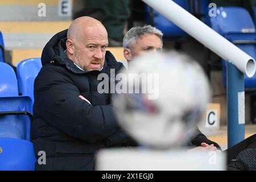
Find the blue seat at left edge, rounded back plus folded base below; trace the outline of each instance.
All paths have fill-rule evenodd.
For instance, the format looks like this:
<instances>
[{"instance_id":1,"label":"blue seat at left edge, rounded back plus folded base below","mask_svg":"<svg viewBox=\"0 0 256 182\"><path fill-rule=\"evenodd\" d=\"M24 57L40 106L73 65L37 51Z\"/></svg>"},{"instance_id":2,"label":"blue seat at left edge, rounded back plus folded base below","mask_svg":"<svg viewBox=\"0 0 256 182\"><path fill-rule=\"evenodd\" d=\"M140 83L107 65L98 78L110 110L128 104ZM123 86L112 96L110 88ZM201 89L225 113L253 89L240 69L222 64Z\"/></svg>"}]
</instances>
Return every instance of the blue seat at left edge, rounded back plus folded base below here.
<instances>
[{"instance_id":1,"label":"blue seat at left edge, rounded back plus folded base below","mask_svg":"<svg viewBox=\"0 0 256 182\"><path fill-rule=\"evenodd\" d=\"M0 138L30 140L32 100L18 96L13 68L0 62Z\"/></svg>"}]
</instances>

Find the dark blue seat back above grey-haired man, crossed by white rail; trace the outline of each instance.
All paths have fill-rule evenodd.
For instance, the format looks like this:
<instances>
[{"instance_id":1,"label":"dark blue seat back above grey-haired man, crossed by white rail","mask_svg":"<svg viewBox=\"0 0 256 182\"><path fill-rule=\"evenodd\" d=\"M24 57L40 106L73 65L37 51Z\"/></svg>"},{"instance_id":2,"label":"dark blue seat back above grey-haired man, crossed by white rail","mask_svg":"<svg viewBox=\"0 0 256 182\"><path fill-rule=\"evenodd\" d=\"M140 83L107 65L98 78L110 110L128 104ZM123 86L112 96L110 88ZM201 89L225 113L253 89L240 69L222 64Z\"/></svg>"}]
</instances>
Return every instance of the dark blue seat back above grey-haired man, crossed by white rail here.
<instances>
[{"instance_id":1,"label":"dark blue seat back above grey-haired man, crossed by white rail","mask_svg":"<svg viewBox=\"0 0 256 182\"><path fill-rule=\"evenodd\" d=\"M178 5L183 7L185 10L189 11L189 1L188 0L174 0ZM150 23L150 14L151 14L151 7L146 5L146 22ZM172 23L170 20L165 18L162 14L160 14L156 10L152 10L152 13L154 14L153 18L153 26L158 28L163 32L163 38L182 38L184 36L187 36L187 33L181 30L181 28L177 27L174 23Z\"/></svg>"}]
</instances>

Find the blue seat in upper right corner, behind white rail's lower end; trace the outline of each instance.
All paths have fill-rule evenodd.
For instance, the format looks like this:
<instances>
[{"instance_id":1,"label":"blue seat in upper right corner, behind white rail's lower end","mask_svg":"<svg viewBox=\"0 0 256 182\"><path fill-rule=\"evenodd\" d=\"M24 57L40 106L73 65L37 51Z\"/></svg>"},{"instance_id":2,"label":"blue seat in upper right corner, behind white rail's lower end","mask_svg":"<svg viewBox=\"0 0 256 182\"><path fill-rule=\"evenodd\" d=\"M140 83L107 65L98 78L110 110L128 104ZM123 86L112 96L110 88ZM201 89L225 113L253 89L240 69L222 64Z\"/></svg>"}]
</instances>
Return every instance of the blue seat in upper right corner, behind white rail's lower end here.
<instances>
[{"instance_id":1,"label":"blue seat in upper right corner, behind white rail's lower end","mask_svg":"<svg viewBox=\"0 0 256 182\"><path fill-rule=\"evenodd\" d=\"M213 30L256 59L255 26L247 10L242 7L218 7L217 16L211 17L210 22ZM221 61L223 85L226 87L226 63ZM256 88L256 75L252 78L245 75L245 88Z\"/></svg>"}]
</instances>

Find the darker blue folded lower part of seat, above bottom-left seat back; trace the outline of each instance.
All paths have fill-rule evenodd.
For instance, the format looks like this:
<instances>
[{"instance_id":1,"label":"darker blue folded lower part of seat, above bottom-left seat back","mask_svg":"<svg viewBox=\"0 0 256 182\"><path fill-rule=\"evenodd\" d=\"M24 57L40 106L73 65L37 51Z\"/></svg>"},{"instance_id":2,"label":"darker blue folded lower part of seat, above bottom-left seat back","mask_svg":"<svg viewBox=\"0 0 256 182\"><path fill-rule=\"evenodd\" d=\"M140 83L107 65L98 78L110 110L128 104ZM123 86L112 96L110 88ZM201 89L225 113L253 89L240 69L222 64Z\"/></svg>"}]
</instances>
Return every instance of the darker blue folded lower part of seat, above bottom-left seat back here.
<instances>
[{"instance_id":1,"label":"darker blue folded lower part of seat, above bottom-left seat back","mask_svg":"<svg viewBox=\"0 0 256 182\"><path fill-rule=\"evenodd\" d=\"M32 114L32 100L28 96L0 97L0 111L28 111ZM27 115L0 116L0 138L30 140L31 121Z\"/></svg>"}]
</instances>

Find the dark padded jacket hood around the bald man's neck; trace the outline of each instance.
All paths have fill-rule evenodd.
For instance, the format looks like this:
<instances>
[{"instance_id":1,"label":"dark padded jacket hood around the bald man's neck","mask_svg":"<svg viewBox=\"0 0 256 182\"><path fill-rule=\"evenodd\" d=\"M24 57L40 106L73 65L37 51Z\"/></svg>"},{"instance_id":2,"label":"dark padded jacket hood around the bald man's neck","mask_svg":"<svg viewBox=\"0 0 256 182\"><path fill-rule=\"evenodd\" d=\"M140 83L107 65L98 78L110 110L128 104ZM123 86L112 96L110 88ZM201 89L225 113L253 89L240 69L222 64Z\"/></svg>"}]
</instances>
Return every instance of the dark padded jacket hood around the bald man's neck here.
<instances>
[{"instance_id":1,"label":"dark padded jacket hood around the bald man's neck","mask_svg":"<svg viewBox=\"0 0 256 182\"><path fill-rule=\"evenodd\" d=\"M63 30L57 34L55 34L49 42L44 46L41 61L42 65L52 63L57 65L63 65L64 67L67 67L70 71L74 73L85 73L88 71L82 71L81 69L77 68L75 64L73 64L73 61L68 58L68 56L65 54L66 47L66 40L67 40L67 30ZM106 67L110 68L121 68L122 63L117 62L115 60L115 57L112 55L111 52L106 51L105 55L105 63L104 63L104 69Z\"/></svg>"}]
</instances>

